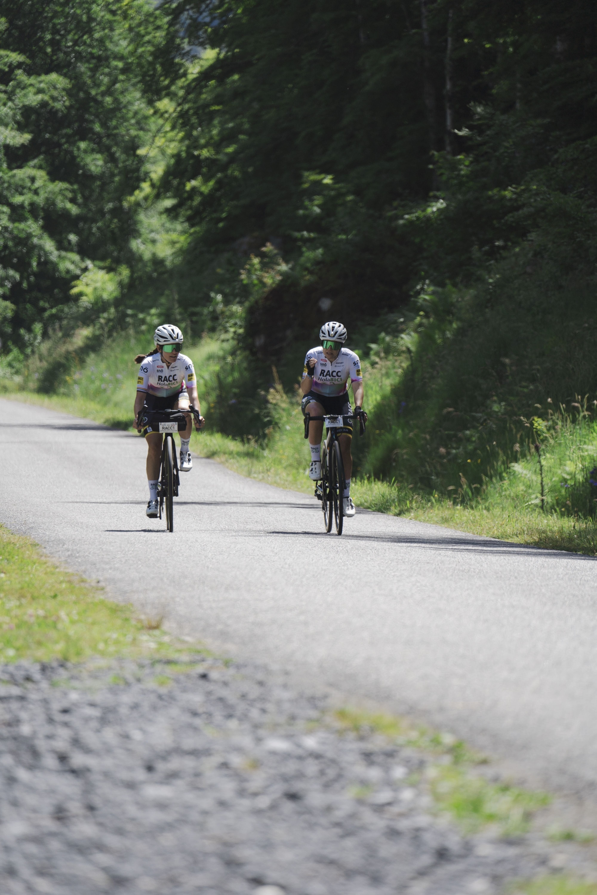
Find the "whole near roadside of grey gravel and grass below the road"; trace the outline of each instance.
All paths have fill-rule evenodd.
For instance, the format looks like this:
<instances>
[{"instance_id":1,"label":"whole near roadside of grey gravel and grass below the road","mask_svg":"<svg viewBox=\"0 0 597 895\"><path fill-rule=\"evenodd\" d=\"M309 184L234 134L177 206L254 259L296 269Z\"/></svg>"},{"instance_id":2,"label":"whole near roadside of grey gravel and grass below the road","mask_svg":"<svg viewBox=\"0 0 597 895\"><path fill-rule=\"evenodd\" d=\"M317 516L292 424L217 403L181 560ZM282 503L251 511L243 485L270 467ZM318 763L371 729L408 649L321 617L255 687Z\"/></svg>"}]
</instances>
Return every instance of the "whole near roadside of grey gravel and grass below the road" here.
<instances>
[{"instance_id":1,"label":"whole near roadside of grey gravel and grass below the road","mask_svg":"<svg viewBox=\"0 0 597 895\"><path fill-rule=\"evenodd\" d=\"M595 895L593 835L456 737L209 655L5 529L0 549L7 895Z\"/></svg>"}]
</instances>

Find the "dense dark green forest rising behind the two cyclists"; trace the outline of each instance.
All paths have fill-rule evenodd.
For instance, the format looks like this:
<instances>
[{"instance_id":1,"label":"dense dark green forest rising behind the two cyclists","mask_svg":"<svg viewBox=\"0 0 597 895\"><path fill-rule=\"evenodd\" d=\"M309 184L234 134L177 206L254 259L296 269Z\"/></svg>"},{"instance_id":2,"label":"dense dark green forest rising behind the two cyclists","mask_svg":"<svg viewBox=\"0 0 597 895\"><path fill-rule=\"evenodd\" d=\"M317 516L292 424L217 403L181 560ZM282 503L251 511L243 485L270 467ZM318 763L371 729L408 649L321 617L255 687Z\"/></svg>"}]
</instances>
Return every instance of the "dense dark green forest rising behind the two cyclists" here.
<instances>
[{"instance_id":1,"label":"dense dark green forest rising behind the two cyclists","mask_svg":"<svg viewBox=\"0 0 597 895\"><path fill-rule=\"evenodd\" d=\"M343 320L391 383L369 468L430 487L465 456L481 482L516 421L594 396L595 4L0 0L0 18L5 371L51 355L51 390L75 354L168 318L232 341L249 395L272 364L291 388ZM234 426L260 437L255 414Z\"/></svg>"}]
</instances>

